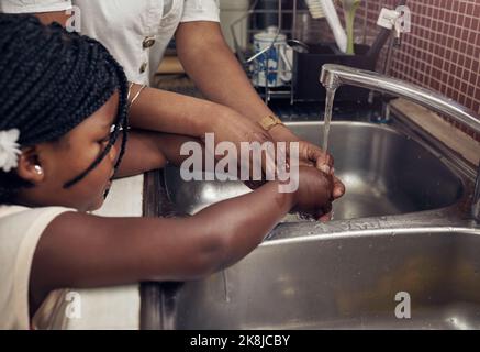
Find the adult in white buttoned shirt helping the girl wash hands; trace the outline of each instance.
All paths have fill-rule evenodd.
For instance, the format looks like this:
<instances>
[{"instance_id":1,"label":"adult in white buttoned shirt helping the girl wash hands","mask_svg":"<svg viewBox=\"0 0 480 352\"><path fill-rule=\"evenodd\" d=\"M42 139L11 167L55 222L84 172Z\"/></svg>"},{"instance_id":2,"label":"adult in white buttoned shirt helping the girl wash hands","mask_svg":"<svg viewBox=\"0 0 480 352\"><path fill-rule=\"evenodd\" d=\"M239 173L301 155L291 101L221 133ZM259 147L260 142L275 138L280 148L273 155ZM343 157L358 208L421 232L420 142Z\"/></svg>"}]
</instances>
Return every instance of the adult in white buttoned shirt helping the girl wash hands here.
<instances>
[{"instance_id":1,"label":"adult in white buttoned shirt helping the girl wash hands","mask_svg":"<svg viewBox=\"0 0 480 352\"><path fill-rule=\"evenodd\" d=\"M216 143L237 146L294 141L301 164L333 174L328 153L276 119L253 88L222 35L217 0L0 0L0 12L33 13L45 24L57 22L100 41L136 84L152 84L175 36L182 67L209 100L147 88L132 109L132 127L193 138L213 132ZM345 190L334 180L338 198Z\"/></svg>"}]
</instances>

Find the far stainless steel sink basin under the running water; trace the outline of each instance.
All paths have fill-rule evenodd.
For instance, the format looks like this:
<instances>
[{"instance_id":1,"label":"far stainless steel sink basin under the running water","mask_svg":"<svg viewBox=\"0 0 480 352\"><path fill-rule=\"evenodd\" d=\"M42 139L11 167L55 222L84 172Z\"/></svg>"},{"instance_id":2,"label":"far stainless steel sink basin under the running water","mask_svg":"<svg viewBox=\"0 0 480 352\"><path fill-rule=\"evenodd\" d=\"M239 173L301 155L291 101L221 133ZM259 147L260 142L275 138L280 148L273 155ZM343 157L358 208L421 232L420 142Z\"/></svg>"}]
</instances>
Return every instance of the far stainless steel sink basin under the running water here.
<instances>
[{"instance_id":1,"label":"far stainless steel sink basin under the running water","mask_svg":"<svg viewBox=\"0 0 480 352\"><path fill-rule=\"evenodd\" d=\"M301 139L321 145L323 123L289 123ZM399 131L373 123L333 122L331 154L347 193L334 204L334 219L402 215L439 209L462 196L464 184L437 156ZM202 208L250 191L241 182L183 182L179 169L165 170L165 184L178 211ZM284 221L299 221L289 216Z\"/></svg>"}]
</instances>

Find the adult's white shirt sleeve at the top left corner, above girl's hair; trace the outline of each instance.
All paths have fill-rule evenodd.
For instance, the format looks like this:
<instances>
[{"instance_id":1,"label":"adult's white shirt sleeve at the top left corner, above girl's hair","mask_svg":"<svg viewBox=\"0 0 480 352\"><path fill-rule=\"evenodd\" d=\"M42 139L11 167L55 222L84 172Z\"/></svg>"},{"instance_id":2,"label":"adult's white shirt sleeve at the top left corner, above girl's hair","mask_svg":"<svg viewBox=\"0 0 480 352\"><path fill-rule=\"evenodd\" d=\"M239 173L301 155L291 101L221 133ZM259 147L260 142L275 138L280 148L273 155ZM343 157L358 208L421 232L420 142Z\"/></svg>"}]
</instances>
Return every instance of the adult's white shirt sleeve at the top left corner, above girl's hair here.
<instances>
[{"instance_id":1,"label":"adult's white shirt sleeve at the top left corner, above girl's hair","mask_svg":"<svg viewBox=\"0 0 480 352\"><path fill-rule=\"evenodd\" d=\"M0 12L34 13L71 9L71 0L0 0Z\"/></svg>"}]
</instances>

